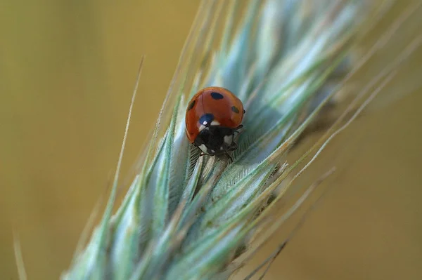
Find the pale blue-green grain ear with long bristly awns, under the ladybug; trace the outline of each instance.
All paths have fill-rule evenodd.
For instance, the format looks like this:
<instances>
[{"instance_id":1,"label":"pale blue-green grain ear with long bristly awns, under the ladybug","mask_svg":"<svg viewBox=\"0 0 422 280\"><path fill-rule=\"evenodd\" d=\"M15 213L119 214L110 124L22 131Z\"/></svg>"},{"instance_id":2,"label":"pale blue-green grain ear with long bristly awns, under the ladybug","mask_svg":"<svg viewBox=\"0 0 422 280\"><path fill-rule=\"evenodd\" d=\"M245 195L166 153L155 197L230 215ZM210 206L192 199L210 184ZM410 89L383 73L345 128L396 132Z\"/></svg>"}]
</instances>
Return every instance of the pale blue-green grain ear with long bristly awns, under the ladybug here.
<instances>
[{"instance_id":1,"label":"pale blue-green grain ear with long bristly awns, under the ladybug","mask_svg":"<svg viewBox=\"0 0 422 280\"><path fill-rule=\"evenodd\" d=\"M112 215L117 168L101 223L63 279L226 279L316 186L284 215L270 215L304 170L295 171L298 164L306 168L312 152L319 149L317 156L344 128L329 131L307 154L286 163L305 128L342 89L342 79L365 61L351 59L363 27L392 2L241 4L202 1L143 166ZM377 93L369 95L371 87L382 88L398 63L354 94L352 108L364 107ZM246 129L231 163L199 157L184 134L186 102L205 86L229 88L246 106Z\"/></svg>"}]
</instances>

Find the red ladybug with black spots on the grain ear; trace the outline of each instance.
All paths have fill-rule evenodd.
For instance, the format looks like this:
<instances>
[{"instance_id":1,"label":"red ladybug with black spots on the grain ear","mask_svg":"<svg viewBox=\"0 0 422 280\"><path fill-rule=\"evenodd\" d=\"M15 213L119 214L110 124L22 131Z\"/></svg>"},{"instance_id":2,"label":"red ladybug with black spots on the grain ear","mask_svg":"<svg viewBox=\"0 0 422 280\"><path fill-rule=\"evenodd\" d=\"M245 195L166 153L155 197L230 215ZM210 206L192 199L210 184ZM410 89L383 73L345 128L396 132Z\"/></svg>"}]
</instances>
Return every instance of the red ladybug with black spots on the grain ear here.
<instances>
[{"instance_id":1,"label":"red ladybug with black spots on the grain ear","mask_svg":"<svg viewBox=\"0 0 422 280\"><path fill-rule=\"evenodd\" d=\"M226 88L203 88L193 95L186 109L188 140L203 154L229 156L228 151L237 149L234 134L243 127L244 114L241 100Z\"/></svg>"}]
</instances>

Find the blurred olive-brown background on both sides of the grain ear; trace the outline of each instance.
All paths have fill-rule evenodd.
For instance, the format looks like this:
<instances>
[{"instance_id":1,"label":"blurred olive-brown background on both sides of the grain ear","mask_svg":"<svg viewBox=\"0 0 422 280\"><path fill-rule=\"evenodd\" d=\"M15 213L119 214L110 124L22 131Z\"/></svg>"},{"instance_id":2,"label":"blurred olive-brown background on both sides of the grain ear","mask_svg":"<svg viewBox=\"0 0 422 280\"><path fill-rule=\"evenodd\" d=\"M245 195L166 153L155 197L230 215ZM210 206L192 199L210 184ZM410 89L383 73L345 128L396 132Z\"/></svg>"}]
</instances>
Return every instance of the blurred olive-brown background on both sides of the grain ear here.
<instances>
[{"instance_id":1,"label":"blurred olive-brown background on both sides of the grain ear","mask_svg":"<svg viewBox=\"0 0 422 280\"><path fill-rule=\"evenodd\" d=\"M158 115L197 5L0 4L1 279L18 277L13 229L30 279L68 267L113 176L141 55L123 174ZM364 114L300 178L306 185L338 166L268 279L422 279L421 102L416 91Z\"/></svg>"}]
</instances>

